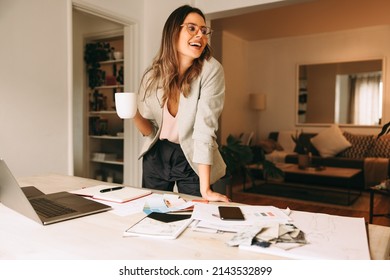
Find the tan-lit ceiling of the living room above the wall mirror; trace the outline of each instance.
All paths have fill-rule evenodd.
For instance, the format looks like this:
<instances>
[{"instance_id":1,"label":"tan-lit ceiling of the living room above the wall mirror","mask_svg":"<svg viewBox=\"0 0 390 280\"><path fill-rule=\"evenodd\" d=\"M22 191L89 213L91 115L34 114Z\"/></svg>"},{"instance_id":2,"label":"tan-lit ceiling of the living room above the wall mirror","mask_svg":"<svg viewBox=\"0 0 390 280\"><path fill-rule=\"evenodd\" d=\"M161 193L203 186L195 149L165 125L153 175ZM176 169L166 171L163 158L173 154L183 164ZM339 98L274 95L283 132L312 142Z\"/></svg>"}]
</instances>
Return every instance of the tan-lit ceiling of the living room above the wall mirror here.
<instances>
[{"instance_id":1,"label":"tan-lit ceiling of the living room above the wall mirror","mask_svg":"<svg viewBox=\"0 0 390 280\"><path fill-rule=\"evenodd\" d=\"M287 3L286 3L287 2ZM389 24L388 0L285 1L211 21L215 31L247 41ZM241 11L243 12L243 11Z\"/></svg>"}]
</instances>

